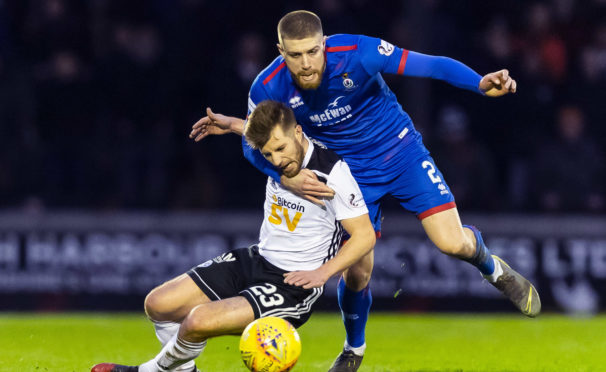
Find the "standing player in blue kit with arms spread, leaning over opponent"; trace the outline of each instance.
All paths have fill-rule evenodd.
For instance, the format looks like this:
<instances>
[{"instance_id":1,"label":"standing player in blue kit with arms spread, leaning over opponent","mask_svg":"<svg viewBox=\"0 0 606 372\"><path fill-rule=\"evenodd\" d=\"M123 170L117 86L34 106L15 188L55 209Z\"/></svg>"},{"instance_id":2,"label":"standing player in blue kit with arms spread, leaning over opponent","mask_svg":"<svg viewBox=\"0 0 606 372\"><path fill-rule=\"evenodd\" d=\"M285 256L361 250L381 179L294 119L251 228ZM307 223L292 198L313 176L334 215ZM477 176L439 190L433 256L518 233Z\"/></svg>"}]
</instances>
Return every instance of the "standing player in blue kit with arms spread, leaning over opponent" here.
<instances>
[{"instance_id":1,"label":"standing player in blue kit with arms spread, leaning over opponent","mask_svg":"<svg viewBox=\"0 0 606 372\"><path fill-rule=\"evenodd\" d=\"M491 255L480 231L462 225L455 199L421 134L383 80L382 74L429 77L489 97L515 93L507 70L480 76L461 62L394 46L384 40L338 34L324 36L320 19L308 11L285 15L278 24L278 56L255 79L248 112L263 100L284 102L304 132L339 154L350 166L377 235L381 203L392 195L421 221L441 252L467 261L525 315L539 314L533 285ZM242 119L213 113L192 128L191 138L231 132ZM289 178L243 141L244 155L263 173L291 191L322 203L332 190L311 172ZM356 371L366 347L364 329L372 302L368 282L373 258L343 273L338 301L347 336L330 371Z\"/></svg>"}]
</instances>

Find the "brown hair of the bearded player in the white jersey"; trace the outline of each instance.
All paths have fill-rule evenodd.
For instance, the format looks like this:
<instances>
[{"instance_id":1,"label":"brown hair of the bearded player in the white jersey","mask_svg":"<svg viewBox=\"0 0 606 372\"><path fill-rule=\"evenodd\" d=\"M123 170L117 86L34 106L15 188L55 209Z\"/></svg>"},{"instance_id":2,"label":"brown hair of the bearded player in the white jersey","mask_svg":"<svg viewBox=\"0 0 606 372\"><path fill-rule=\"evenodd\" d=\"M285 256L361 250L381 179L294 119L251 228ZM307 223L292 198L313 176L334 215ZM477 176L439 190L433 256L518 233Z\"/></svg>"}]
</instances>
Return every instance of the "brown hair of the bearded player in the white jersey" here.
<instances>
[{"instance_id":1,"label":"brown hair of the bearded player in the white jersey","mask_svg":"<svg viewBox=\"0 0 606 372\"><path fill-rule=\"evenodd\" d=\"M297 124L295 114L290 107L277 101L263 101L257 105L248 118L244 137L253 149L260 149L275 127L280 125L284 133Z\"/></svg>"}]
</instances>

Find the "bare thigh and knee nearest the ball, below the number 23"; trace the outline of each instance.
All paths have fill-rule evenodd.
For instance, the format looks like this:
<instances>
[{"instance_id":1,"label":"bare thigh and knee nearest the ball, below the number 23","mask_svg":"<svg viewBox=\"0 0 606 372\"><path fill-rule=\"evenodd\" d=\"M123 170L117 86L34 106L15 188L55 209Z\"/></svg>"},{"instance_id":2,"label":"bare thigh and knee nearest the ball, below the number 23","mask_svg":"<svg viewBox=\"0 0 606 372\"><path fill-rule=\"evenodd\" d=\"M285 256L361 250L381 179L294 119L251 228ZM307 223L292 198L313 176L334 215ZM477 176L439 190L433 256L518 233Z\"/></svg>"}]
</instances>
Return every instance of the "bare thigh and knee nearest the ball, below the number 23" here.
<instances>
[{"instance_id":1,"label":"bare thigh and knee nearest the ball, below the number 23","mask_svg":"<svg viewBox=\"0 0 606 372\"><path fill-rule=\"evenodd\" d=\"M239 335L254 319L255 313L247 299L230 297L194 307L183 320L180 332L203 338Z\"/></svg>"}]
</instances>

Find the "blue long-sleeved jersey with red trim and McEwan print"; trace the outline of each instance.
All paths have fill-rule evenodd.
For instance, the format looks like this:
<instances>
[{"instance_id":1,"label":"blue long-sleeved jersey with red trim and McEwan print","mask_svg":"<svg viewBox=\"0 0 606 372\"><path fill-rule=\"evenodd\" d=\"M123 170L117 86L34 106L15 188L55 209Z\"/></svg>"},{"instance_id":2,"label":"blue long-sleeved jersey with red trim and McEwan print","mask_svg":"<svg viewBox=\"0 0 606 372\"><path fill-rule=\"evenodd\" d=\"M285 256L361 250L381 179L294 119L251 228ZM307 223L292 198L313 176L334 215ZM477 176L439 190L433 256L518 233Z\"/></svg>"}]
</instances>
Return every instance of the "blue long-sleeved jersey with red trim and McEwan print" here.
<instances>
[{"instance_id":1,"label":"blue long-sleeved jersey with red trim and McEwan print","mask_svg":"<svg viewBox=\"0 0 606 372\"><path fill-rule=\"evenodd\" d=\"M261 101L283 102L308 136L345 159L359 183L389 182L401 174L407 157L427 150L382 73L431 77L480 93L480 75L458 61L340 34L326 41L326 69L316 90L299 88L280 56L253 82L248 114ZM279 181L279 171L244 138L242 144L246 158Z\"/></svg>"}]
</instances>

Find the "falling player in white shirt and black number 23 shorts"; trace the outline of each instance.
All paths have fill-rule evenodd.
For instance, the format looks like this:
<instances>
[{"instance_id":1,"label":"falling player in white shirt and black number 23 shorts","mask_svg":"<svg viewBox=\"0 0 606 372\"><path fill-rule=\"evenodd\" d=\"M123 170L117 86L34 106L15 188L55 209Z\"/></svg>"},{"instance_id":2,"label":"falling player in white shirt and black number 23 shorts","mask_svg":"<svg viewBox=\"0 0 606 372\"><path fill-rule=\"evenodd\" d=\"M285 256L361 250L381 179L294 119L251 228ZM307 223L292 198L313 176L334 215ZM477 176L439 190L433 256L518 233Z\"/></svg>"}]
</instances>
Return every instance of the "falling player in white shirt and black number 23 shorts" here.
<instances>
[{"instance_id":1,"label":"falling player in white shirt and black number 23 shorts","mask_svg":"<svg viewBox=\"0 0 606 372\"><path fill-rule=\"evenodd\" d=\"M240 334L265 316L301 326L330 277L372 256L374 230L349 167L332 151L314 145L289 107L260 103L245 137L285 176L314 172L334 196L313 203L269 178L257 245L208 260L145 299L163 345L160 353L140 366L102 363L92 372L196 371L193 360L207 339ZM339 249L343 229L350 238Z\"/></svg>"}]
</instances>

